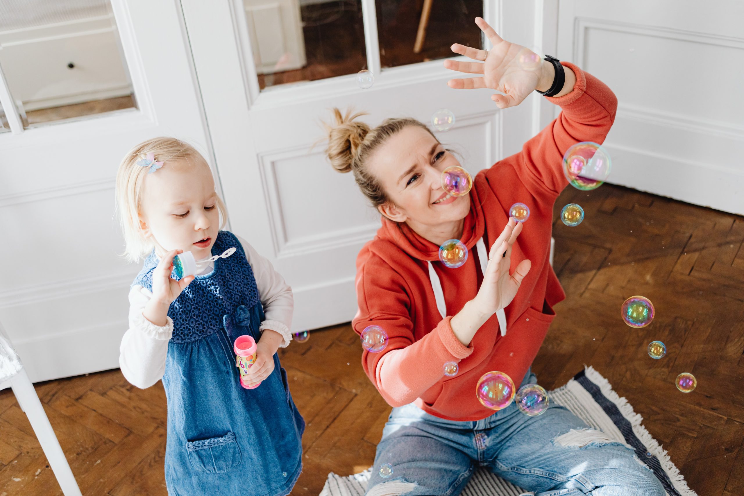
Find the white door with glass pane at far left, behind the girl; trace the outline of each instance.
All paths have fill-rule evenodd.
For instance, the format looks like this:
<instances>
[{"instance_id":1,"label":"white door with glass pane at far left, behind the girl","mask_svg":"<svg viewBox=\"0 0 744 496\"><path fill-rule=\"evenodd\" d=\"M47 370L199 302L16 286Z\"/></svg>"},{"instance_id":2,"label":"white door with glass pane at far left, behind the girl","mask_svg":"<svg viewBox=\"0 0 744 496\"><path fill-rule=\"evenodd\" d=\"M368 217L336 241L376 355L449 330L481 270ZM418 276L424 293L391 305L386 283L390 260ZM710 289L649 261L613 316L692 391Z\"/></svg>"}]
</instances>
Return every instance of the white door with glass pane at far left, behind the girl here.
<instances>
[{"instance_id":1,"label":"white door with glass pane at far left, behind the girl","mask_svg":"<svg viewBox=\"0 0 744 496\"><path fill-rule=\"evenodd\" d=\"M46 3L0 1L0 321L33 381L118 367L124 153L176 135L211 161L177 2Z\"/></svg>"}]
</instances>

